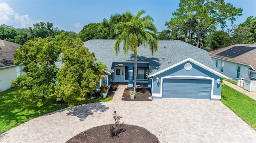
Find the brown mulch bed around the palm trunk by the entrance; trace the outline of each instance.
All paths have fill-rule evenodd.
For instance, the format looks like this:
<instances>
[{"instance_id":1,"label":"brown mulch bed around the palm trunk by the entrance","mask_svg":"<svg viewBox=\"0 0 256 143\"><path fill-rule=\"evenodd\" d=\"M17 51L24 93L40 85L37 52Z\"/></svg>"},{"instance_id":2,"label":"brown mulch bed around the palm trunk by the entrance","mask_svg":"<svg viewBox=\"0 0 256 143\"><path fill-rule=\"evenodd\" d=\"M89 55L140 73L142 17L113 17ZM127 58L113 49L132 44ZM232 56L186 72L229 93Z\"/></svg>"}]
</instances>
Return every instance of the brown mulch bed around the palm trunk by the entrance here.
<instances>
[{"instance_id":1,"label":"brown mulch bed around the palm trunk by the entrance","mask_svg":"<svg viewBox=\"0 0 256 143\"><path fill-rule=\"evenodd\" d=\"M136 94L134 96L134 99L131 99L130 97L130 91L133 91L133 88L126 88L124 90L123 96L122 96L122 100L124 101L152 101L150 99L148 99L149 97L151 97L151 91L148 88L137 88L136 89Z\"/></svg>"}]
</instances>

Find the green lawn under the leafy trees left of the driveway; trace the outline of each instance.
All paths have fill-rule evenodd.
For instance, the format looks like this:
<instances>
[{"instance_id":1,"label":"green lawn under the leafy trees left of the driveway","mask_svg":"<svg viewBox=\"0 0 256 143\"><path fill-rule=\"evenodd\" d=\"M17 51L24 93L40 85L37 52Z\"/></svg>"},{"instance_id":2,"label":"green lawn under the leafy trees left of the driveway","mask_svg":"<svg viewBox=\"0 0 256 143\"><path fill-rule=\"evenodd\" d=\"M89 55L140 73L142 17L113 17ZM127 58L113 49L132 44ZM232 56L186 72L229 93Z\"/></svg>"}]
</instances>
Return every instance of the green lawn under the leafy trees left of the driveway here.
<instances>
[{"instance_id":1,"label":"green lawn under the leafy trees left of the driveway","mask_svg":"<svg viewBox=\"0 0 256 143\"><path fill-rule=\"evenodd\" d=\"M19 91L19 88L11 88L0 93L0 134L30 119L69 107L68 104L53 104L54 98L52 96L44 104L31 105L23 100L14 98ZM112 100L112 97L91 100L80 98L76 105L109 100Z\"/></svg>"}]
</instances>

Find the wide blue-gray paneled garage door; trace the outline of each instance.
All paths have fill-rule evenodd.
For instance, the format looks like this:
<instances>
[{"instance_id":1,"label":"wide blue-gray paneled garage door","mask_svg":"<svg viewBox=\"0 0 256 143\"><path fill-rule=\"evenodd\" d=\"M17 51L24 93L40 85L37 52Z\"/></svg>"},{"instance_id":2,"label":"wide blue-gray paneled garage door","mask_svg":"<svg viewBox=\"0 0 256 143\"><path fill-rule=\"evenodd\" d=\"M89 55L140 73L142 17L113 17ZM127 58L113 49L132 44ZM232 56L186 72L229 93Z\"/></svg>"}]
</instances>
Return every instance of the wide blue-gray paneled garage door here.
<instances>
[{"instance_id":1,"label":"wide blue-gray paneled garage door","mask_svg":"<svg viewBox=\"0 0 256 143\"><path fill-rule=\"evenodd\" d=\"M164 79L162 98L210 99L212 80Z\"/></svg>"}]
</instances>

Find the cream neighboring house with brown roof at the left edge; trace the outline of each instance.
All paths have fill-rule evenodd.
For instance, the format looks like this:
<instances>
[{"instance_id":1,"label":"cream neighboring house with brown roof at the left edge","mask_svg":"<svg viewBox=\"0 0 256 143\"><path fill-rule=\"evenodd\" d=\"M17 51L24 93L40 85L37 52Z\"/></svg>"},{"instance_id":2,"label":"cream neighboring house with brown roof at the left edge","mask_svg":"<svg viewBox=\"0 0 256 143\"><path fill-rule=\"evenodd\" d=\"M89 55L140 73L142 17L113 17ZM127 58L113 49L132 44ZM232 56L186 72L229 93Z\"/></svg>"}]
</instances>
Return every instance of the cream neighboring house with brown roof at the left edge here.
<instances>
[{"instance_id":1,"label":"cream neighboring house with brown roof at the left edge","mask_svg":"<svg viewBox=\"0 0 256 143\"><path fill-rule=\"evenodd\" d=\"M19 49L20 45L8 41L0 40L0 92L12 87L11 81L15 80L18 75L25 74L22 72L23 65L16 66L13 63L15 49Z\"/></svg>"}]
</instances>

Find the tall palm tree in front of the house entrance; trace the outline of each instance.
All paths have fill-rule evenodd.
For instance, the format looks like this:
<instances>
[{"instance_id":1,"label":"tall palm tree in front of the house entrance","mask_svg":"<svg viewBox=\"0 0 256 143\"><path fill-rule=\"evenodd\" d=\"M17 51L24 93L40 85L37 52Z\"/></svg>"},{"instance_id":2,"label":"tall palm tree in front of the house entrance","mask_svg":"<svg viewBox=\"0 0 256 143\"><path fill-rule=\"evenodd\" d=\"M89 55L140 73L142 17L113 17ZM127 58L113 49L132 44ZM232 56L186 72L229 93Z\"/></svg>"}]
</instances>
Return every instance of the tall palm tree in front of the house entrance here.
<instances>
[{"instance_id":1,"label":"tall palm tree in front of the house entrance","mask_svg":"<svg viewBox=\"0 0 256 143\"><path fill-rule=\"evenodd\" d=\"M134 91L136 92L136 79L137 79L137 56L138 47L140 45L147 47L152 52L157 51L158 42L156 40L157 29L153 24L153 18L149 15L140 18L145 14L145 10L138 12L134 16L131 12L126 12L126 22L119 22L115 27L115 33L118 34L114 44L116 55L119 52L119 46L123 41L124 55L128 55L131 51L134 54Z\"/></svg>"}]
</instances>

